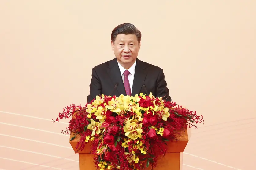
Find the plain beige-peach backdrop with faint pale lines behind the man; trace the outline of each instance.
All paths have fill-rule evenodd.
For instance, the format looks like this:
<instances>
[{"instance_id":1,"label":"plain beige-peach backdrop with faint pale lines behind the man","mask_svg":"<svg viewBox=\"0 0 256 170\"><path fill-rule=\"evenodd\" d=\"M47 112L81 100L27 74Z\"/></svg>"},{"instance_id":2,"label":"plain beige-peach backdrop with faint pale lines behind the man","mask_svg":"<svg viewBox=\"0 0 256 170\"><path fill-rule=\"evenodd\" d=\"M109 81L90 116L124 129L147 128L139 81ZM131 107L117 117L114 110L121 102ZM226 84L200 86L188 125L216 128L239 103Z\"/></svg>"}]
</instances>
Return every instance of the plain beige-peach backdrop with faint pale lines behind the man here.
<instances>
[{"instance_id":1,"label":"plain beige-peach backdrop with faint pale lines behind the man","mask_svg":"<svg viewBox=\"0 0 256 170\"><path fill-rule=\"evenodd\" d=\"M256 1L0 1L0 169L78 169L62 108L85 104L112 29L142 32L173 101L204 115L184 170L255 169Z\"/></svg>"}]
</instances>

